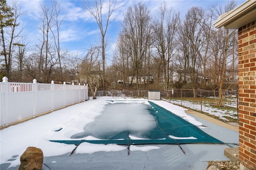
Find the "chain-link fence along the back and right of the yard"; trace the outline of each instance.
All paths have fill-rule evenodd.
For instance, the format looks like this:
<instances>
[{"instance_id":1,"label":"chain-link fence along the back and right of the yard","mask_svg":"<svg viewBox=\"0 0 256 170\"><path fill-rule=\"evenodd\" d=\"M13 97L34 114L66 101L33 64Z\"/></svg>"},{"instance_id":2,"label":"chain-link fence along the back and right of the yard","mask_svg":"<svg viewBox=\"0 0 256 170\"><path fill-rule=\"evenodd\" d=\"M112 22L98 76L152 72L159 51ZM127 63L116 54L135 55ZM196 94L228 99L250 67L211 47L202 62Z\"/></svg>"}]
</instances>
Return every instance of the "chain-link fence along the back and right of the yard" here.
<instances>
[{"instance_id":1,"label":"chain-link fence along the back and right of the yard","mask_svg":"<svg viewBox=\"0 0 256 170\"><path fill-rule=\"evenodd\" d=\"M220 94L221 93L221 94ZM220 102L220 95L223 95ZM92 96L92 94L90 94ZM138 91L98 91L96 96L138 97ZM140 97L148 99L148 90L141 90ZM161 90L161 99L175 105L198 111L224 123L238 127L238 92L205 91L191 89ZM221 105L220 105L221 104Z\"/></svg>"}]
</instances>

